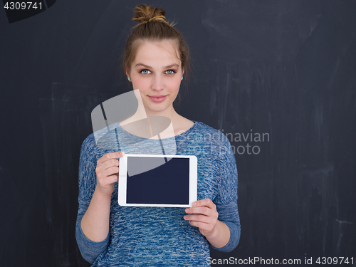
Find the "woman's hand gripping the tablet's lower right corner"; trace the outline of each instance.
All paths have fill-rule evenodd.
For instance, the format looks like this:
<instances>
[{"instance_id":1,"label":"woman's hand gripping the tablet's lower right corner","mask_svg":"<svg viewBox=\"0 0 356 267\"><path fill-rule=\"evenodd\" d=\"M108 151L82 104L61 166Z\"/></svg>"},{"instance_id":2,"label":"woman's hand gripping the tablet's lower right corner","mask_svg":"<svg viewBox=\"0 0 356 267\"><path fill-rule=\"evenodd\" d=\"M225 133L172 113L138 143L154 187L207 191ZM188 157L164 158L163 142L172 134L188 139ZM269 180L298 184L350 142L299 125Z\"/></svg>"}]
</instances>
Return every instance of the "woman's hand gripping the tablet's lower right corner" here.
<instances>
[{"instance_id":1,"label":"woman's hand gripping the tablet's lower right corner","mask_svg":"<svg viewBox=\"0 0 356 267\"><path fill-rule=\"evenodd\" d=\"M202 235L211 236L214 234L219 214L211 199L194 201L193 206L185 209L185 212L188 215L184 216L184 220L189 221L189 224L192 224L192 226L199 227Z\"/></svg>"}]
</instances>

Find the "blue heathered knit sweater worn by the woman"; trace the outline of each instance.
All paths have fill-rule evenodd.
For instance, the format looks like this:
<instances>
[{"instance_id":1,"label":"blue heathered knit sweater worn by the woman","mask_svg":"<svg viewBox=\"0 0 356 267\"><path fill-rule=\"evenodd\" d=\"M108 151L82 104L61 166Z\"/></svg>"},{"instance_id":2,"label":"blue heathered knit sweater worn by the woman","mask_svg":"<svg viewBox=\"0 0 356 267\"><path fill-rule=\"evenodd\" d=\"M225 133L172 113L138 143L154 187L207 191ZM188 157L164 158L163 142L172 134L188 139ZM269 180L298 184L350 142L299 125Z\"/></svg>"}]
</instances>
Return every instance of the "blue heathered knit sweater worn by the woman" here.
<instances>
[{"instance_id":1,"label":"blue heathered knit sweater worn by the woman","mask_svg":"<svg viewBox=\"0 0 356 267\"><path fill-rule=\"evenodd\" d=\"M100 130L101 131L101 130ZM96 185L95 167L108 152L162 155L159 140L145 140L120 127L95 132L83 142L79 164L79 209L76 239L83 258L93 266L209 266L209 244L199 229L183 219L184 208L119 206L117 183L111 198L110 232L102 242L88 239L80 221L88 209ZM101 138L100 138L101 137ZM100 138L100 140L99 140ZM96 141L95 141L96 140ZM229 243L218 251L232 251L240 239L237 209L237 169L226 136L202 122L175 137L162 139L165 154L198 159L198 199L216 204L219 220L229 226ZM213 247L214 248L214 247Z\"/></svg>"}]
</instances>

